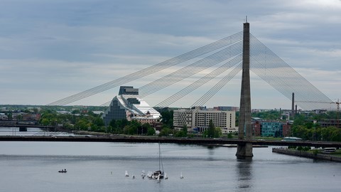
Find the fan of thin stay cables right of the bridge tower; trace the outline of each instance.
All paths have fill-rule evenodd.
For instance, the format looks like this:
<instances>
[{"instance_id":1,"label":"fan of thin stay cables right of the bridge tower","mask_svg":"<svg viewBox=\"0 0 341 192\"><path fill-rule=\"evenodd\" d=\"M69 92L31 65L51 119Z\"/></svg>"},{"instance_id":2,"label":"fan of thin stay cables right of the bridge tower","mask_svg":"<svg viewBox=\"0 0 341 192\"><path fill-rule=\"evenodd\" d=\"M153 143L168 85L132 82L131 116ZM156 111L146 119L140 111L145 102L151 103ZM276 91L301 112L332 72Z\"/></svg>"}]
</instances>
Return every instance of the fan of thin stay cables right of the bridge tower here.
<instances>
[{"instance_id":1,"label":"fan of thin stay cables right of the bridge tower","mask_svg":"<svg viewBox=\"0 0 341 192\"><path fill-rule=\"evenodd\" d=\"M264 46L258 39L251 35L251 66L256 75L269 83L276 90L281 92L289 100L291 100L292 92L295 92L296 99L299 100L323 100L326 103L332 102L320 90L313 86L308 80L293 70L287 63L273 53L269 48ZM306 94L313 92L313 94ZM303 109L320 109L318 105L310 105L301 103L299 105ZM328 108L325 105L324 108Z\"/></svg>"}]
</instances>

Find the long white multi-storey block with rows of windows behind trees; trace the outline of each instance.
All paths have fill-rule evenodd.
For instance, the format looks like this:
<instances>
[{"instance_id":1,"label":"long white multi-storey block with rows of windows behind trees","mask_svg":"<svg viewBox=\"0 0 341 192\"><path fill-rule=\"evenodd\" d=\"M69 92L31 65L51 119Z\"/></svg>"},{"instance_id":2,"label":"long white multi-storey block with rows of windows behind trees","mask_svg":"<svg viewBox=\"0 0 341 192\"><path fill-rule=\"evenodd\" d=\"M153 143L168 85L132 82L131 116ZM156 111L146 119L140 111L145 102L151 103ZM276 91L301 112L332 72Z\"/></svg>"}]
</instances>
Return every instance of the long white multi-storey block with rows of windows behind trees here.
<instances>
[{"instance_id":1,"label":"long white multi-storey block with rows of windows behind trees","mask_svg":"<svg viewBox=\"0 0 341 192\"><path fill-rule=\"evenodd\" d=\"M212 119L215 127L220 127L223 134L237 132L235 125L236 113L234 111L201 110L200 107L194 109L180 109L173 112L173 126L175 129L182 129L184 125L188 127L188 132L197 130L204 132Z\"/></svg>"}]
</instances>

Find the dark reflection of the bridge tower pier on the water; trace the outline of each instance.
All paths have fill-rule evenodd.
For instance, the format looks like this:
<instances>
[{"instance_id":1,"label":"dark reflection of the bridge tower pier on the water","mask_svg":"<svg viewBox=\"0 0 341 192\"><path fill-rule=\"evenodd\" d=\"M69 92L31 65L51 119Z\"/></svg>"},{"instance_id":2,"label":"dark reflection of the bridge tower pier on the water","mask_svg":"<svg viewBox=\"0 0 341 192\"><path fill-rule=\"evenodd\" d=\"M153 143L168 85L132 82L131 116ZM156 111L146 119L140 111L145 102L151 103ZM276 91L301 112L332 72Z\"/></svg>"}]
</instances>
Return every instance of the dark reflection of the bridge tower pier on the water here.
<instances>
[{"instance_id":1,"label":"dark reflection of the bridge tower pier on the water","mask_svg":"<svg viewBox=\"0 0 341 192\"><path fill-rule=\"evenodd\" d=\"M237 188L240 191L251 191L252 188L252 161L237 161Z\"/></svg>"}]
</instances>

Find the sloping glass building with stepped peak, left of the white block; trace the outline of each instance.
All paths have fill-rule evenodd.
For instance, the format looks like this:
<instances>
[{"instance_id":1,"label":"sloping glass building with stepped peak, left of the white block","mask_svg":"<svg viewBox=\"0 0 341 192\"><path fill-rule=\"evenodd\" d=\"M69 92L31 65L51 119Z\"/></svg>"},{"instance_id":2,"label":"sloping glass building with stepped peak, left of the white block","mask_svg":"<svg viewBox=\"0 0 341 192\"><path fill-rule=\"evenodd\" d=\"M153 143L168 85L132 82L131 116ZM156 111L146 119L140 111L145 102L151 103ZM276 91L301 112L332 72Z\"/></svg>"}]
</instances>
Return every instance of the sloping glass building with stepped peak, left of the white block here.
<instances>
[{"instance_id":1,"label":"sloping glass building with stepped peak, left of the white block","mask_svg":"<svg viewBox=\"0 0 341 192\"><path fill-rule=\"evenodd\" d=\"M113 119L127 119L129 121L135 119L142 124L147 122L154 124L159 122L160 113L139 97L139 89L121 86L119 95L112 99L102 118L106 125L109 125Z\"/></svg>"}]
</instances>

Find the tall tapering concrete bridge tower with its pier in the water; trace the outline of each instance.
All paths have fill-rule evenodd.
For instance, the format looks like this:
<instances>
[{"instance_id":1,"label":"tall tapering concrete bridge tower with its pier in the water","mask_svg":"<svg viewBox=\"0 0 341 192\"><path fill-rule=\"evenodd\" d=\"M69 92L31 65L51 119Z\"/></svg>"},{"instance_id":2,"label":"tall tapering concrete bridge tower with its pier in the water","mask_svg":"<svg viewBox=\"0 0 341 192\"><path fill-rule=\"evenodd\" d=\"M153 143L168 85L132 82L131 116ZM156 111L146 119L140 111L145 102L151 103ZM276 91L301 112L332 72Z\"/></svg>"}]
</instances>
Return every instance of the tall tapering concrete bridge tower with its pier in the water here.
<instances>
[{"instance_id":1,"label":"tall tapering concrete bridge tower with its pier in the water","mask_svg":"<svg viewBox=\"0 0 341 192\"><path fill-rule=\"evenodd\" d=\"M243 35L243 70L242 90L240 94L238 139L252 139L251 127L251 91L250 91L250 26L244 23ZM237 146L237 159L251 159L252 144L239 144Z\"/></svg>"}]
</instances>

